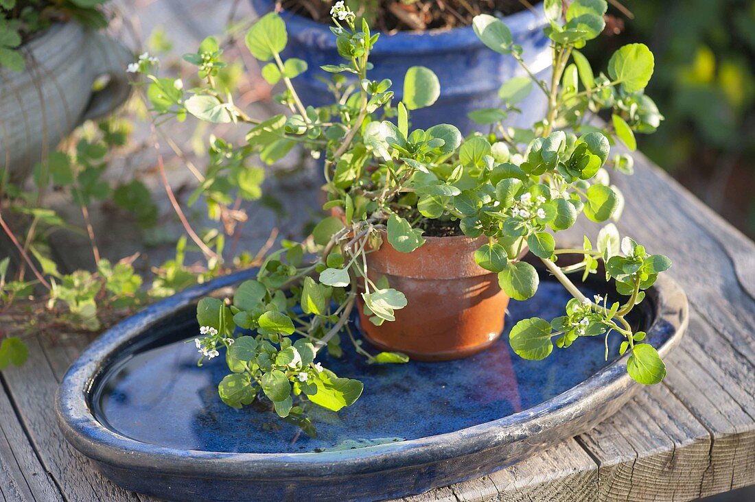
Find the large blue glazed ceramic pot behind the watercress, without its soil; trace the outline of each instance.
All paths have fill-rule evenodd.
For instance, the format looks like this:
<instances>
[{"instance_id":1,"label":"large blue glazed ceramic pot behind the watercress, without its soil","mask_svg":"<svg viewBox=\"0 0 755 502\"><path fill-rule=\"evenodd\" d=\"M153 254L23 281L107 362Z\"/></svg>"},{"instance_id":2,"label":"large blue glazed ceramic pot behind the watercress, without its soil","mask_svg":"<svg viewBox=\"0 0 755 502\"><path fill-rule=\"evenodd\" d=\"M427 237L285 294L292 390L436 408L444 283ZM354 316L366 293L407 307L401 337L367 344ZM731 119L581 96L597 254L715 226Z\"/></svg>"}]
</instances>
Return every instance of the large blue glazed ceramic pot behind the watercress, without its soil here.
<instances>
[{"instance_id":1,"label":"large blue glazed ceramic pot behind the watercress, without its soil","mask_svg":"<svg viewBox=\"0 0 755 502\"><path fill-rule=\"evenodd\" d=\"M273 0L251 0L258 14L266 14ZM543 33L547 20L542 5L536 12L524 10L504 18L514 42L524 49L525 63L538 76L550 80L550 42ZM330 94L317 77L330 78L320 66L341 62L335 37L328 25L284 12L288 28L288 47L285 57L298 57L309 65L307 72L294 80L305 104L322 106ZM439 123L456 125L463 134L482 130L467 117L474 109L498 107L498 88L515 76L525 75L519 63L510 55L498 54L482 45L471 26L427 32L398 32L382 35L370 54L374 69L370 79L390 79L393 91L401 98L404 74L411 66L427 66L438 75L440 97L433 106L411 112L416 128L429 128ZM547 102L542 93L532 91L521 103L522 115L516 115L511 125L529 127L542 119Z\"/></svg>"}]
</instances>

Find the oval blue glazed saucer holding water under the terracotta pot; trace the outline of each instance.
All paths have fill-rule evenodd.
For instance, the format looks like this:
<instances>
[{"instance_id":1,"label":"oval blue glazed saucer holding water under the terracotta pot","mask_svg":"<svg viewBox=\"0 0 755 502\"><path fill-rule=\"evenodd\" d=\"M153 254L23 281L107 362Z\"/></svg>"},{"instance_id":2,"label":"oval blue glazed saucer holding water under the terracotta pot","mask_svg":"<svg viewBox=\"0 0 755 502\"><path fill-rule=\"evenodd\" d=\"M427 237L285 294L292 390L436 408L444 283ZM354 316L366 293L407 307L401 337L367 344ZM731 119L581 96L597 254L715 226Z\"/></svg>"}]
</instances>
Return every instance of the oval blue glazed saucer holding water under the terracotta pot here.
<instances>
[{"instance_id":1,"label":"oval blue glazed saucer holding water under the terracotta pot","mask_svg":"<svg viewBox=\"0 0 755 502\"><path fill-rule=\"evenodd\" d=\"M168 500L402 497L491 473L589 430L641 387L626 374L626 356L617 356L617 336L608 362L602 338L531 362L510 350L505 332L467 359L405 365L367 365L345 342L343 358L322 362L362 380L364 393L338 413L310 407L317 431L310 437L265 402L223 405L223 361L198 368L193 343L184 343L199 332L199 297L255 274L150 306L103 334L69 369L57 397L60 427L114 482ZM507 331L519 319L560 315L566 300L543 275L532 300L510 304ZM643 306L633 322L663 356L686 327L686 296L659 278Z\"/></svg>"}]
</instances>

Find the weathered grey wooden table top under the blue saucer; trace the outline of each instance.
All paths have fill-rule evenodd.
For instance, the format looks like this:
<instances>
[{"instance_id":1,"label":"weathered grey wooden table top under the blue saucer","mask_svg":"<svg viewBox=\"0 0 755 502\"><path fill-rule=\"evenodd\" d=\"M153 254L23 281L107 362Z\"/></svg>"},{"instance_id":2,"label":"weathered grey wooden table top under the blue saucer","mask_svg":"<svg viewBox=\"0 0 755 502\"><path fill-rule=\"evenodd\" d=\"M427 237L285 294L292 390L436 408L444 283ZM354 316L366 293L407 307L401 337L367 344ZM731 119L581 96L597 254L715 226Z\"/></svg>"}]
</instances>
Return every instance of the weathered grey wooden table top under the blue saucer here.
<instances>
[{"instance_id":1,"label":"weathered grey wooden table top under the blue saucer","mask_svg":"<svg viewBox=\"0 0 755 502\"><path fill-rule=\"evenodd\" d=\"M671 257L690 303L664 382L589 433L408 500L690 500L755 484L755 244L643 156L635 165L615 175L619 229ZM58 383L88 341L26 337L29 361L0 374L0 500L149 499L100 476L55 423Z\"/></svg>"}]
</instances>

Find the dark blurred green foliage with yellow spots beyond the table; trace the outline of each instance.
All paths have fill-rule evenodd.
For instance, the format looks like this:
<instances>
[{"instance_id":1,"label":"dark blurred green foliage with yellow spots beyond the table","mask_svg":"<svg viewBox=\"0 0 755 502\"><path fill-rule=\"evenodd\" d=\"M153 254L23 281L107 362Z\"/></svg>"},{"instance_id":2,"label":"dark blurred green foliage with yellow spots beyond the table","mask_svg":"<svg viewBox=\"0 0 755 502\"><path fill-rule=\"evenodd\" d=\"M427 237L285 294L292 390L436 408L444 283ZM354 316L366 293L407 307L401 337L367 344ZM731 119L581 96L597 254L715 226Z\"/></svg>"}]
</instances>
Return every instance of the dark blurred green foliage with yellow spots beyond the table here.
<instances>
[{"instance_id":1,"label":"dark blurred green foliage with yellow spots beyond the table","mask_svg":"<svg viewBox=\"0 0 755 502\"><path fill-rule=\"evenodd\" d=\"M655 54L648 91L666 120L639 148L755 235L755 0L622 3L635 19L610 8L625 29L587 56L600 66L628 40Z\"/></svg>"}]
</instances>

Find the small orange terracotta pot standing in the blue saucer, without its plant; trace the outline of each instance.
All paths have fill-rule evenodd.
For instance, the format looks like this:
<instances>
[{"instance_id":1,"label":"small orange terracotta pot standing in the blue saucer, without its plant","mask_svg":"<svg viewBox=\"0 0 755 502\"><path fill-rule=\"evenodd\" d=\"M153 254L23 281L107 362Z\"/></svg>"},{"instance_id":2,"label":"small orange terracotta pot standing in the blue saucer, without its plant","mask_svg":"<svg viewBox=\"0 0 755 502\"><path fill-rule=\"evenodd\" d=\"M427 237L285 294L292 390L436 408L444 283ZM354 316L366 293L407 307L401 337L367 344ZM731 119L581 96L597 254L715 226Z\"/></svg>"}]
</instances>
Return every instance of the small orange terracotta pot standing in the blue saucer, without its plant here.
<instances>
[{"instance_id":1,"label":"small orange terracotta pot standing in the blue saucer, without its plant","mask_svg":"<svg viewBox=\"0 0 755 502\"><path fill-rule=\"evenodd\" d=\"M367 255L368 276L387 276L390 287L406 295L396 321L375 326L365 316L359 297L362 333L382 350L399 351L420 361L445 361L485 350L501 335L509 297L498 274L482 269L474 251L487 242L427 237L411 253L399 253L387 242Z\"/></svg>"}]
</instances>

